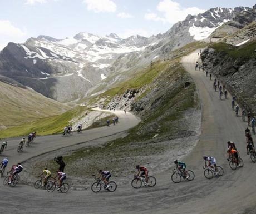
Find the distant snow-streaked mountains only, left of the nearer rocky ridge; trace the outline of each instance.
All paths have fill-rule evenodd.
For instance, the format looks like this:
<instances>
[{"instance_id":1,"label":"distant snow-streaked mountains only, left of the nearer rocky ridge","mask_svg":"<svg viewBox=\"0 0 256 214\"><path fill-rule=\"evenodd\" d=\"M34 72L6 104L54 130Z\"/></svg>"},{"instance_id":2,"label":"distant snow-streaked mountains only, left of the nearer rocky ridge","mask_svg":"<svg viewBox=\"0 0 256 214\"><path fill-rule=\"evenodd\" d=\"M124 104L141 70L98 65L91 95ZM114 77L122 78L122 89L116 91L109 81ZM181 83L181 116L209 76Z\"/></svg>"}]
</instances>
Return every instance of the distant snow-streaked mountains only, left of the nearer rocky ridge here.
<instances>
[{"instance_id":1,"label":"distant snow-streaked mountains only, left of the nearer rocky ridge","mask_svg":"<svg viewBox=\"0 0 256 214\"><path fill-rule=\"evenodd\" d=\"M146 37L122 39L114 33L78 33L65 39L38 36L24 44L9 43L0 54L0 74L47 97L71 101L105 79L106 68L120 54L141 51L149 42Z\"/></svg>"}]
</instances>

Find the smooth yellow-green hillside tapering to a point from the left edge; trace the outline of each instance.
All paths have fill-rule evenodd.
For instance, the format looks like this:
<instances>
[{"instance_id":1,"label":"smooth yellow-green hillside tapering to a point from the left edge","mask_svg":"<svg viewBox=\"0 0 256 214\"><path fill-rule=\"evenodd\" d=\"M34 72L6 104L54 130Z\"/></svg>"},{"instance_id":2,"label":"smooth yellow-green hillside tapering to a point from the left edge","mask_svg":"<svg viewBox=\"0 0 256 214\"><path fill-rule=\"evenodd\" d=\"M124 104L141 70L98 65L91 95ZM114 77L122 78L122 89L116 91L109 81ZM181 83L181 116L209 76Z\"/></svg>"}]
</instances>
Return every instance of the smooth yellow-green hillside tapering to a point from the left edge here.
<instances>
[{"instance_id":1,"label":"smooth yellow-green hillside tapering to a point from the left edge","mask_svg":"<svg viewBox=\"0 0 256 214\"><path fill-rule=\"evenodd\" d=\"M40 93L0 82L0 129L60 115L70 107Z\"/></svg>"}]
</instances>

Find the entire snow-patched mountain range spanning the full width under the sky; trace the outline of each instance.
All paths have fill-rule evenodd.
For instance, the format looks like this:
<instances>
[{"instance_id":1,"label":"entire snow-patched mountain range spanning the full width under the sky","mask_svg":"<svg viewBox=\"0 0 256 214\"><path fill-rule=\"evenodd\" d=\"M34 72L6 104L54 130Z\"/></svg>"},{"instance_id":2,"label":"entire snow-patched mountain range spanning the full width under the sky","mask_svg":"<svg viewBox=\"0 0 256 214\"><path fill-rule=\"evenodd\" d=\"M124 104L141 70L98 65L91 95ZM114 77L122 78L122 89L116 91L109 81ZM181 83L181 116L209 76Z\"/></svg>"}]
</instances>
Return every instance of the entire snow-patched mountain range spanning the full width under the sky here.
<instances>
[{"instance_id":1,"label":"entire snow-patched mountain range spanning the full width under the sky","mask_svg":"<svg viewBox=\"0 0 256 214\"><path fill-rule=\"evenodd\" d=\"M9 43L3 49L0 75L47 97L71 101L93 90L104 91L185 44L219 38L223 31L232 27L233 33L255 20L255 6L213 8L196 16L188 15L166 33L149 38L136 35L122 39L114 33L78 33L65 39L38 36L24 44Z\"/></svg>"}]
</instances>

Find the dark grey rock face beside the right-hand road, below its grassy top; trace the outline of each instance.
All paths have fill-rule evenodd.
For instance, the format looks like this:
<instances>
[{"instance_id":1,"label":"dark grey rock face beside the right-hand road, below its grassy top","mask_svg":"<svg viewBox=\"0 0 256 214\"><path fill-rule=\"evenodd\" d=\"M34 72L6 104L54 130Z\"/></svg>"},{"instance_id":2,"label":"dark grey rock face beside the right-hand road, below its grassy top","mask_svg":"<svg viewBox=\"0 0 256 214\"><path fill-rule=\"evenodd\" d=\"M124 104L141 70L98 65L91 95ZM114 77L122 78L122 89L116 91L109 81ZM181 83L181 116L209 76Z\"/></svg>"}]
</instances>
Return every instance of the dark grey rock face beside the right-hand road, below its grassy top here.
<instances>
[{"instance_id":1,"label":"dark grey rock face beside the right-hand road, below its grassy top","mask_svg":"<svg viewBox=\"0 0 256 214\"><path fill-rule=\"evenodd\" d=\"M228 54L205 49L201 54L205 69L212 72L233 95L242 108L256 113L256 59L234 59Z\"/></svg>"}]
</instances>

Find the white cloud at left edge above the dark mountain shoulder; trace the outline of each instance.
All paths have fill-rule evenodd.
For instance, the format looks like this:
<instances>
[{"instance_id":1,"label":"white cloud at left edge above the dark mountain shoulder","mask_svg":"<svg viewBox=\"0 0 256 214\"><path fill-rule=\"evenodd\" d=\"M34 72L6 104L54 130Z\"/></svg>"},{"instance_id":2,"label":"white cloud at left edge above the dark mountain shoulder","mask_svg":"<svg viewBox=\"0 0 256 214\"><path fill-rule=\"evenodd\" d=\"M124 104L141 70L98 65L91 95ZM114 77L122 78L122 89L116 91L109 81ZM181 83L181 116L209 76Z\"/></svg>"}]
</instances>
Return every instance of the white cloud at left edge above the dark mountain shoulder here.
<instances>
[{"instance_id":1,"label":"white cloud at left edge above the dark mountain shoulder","mask_svg":"<svg viewBox=\"0 0 256 214\"><path fill-rule=\"evenodd\" d=\"M8 42L24 41L26 35L26 32L13 26L8 20L0 20L0 49L6 47Z\"/></svg>"}]
</instances>

